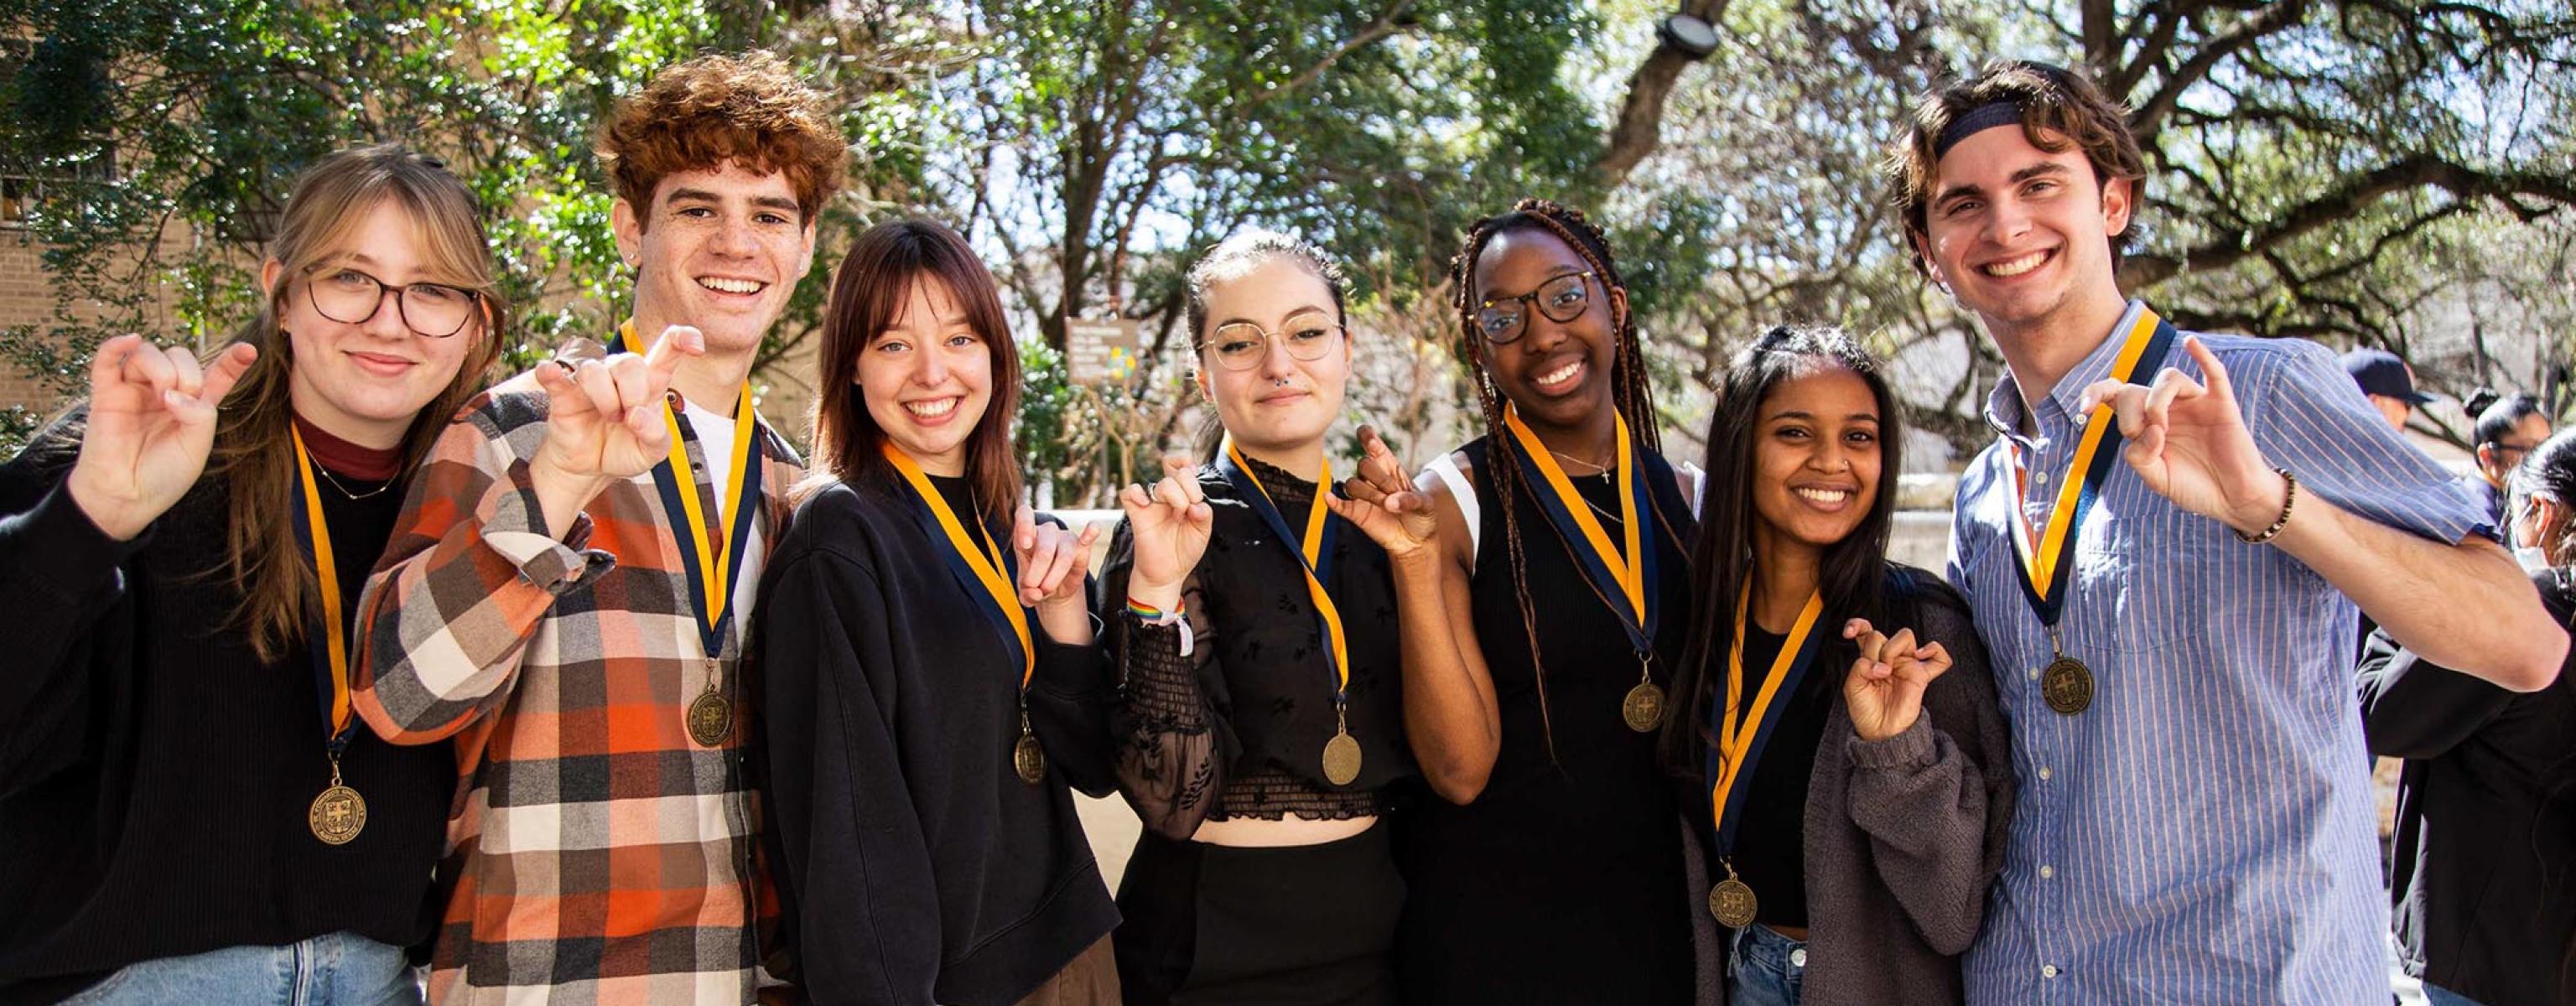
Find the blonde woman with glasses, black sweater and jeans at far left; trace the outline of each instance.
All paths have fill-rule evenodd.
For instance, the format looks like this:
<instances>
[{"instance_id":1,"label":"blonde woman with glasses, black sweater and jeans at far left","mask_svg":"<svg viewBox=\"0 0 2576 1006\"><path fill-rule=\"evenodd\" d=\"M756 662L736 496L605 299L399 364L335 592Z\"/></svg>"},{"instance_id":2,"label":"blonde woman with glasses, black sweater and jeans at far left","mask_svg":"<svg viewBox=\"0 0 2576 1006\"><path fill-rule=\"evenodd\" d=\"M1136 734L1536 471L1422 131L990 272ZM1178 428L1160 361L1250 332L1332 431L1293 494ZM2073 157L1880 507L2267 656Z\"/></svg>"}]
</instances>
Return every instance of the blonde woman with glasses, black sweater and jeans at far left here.
<instances>
[{"instance_id":1,"label":"blonde woman with glasses, black sweater and jeans at far left","mask_svg":"<svg viewBox=\"0 0 2576 1006\"><path fill-rule=\"evenodd\" d=\"M0 1001L420 1001L456 769L355 726L350 617L507 311L397 147L296 180L260 288L204 363L100 345L0 468Z\"/></svg>"}]
</instances>

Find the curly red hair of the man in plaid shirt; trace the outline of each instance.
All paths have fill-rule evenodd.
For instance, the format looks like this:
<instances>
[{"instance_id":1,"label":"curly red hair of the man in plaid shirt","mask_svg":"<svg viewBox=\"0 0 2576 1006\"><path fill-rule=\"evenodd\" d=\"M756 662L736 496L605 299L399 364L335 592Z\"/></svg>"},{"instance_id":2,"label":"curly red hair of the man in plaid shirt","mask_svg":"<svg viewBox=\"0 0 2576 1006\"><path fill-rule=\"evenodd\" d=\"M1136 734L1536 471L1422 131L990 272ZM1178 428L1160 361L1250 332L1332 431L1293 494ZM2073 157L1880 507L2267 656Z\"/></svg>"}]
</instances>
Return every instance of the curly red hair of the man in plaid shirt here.
<instances>
[{"instance_id":1,"label":"curly red hair of the man in plaid shirt","mask_svg":"<svg viewBox=\"0 0 2576 1006\"><path fill-rule=\"evenodd\" d=\"M641 93L618 100L595 147L600 167L629 206L652 206L662 178L734 162L752 172L786 172L796 214L814 221L840 190L850 142L832 121L827 95L796 80L770 51L708 54L662 69ZM649 219L649 216L647 216Z\"/></svg>"}]
</instances>

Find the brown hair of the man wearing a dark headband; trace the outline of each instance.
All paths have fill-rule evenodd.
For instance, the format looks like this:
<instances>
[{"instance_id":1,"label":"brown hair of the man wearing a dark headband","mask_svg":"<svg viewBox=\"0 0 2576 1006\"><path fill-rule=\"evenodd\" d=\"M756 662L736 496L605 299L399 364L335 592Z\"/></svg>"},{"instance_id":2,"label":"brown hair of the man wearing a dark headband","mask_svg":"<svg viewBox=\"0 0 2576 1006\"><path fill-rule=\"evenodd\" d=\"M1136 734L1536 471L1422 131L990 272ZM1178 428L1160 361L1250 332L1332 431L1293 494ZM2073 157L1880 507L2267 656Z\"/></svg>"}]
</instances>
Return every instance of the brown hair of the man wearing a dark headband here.
<instances>
[{"instance_id":1,"label":"brown hair of the man wearing a dark headband","mask_svg":"<svg viewBox=\"0 0 2576 1006\"><path fill-rule=\"evenodd\" d=\"M2092 77L2079 72L2030 59L1991 62L1976 77L1950 80L1924 95L1914 105L1914 129L1880 162L1878 172L1886 183L1888 203L1896 208L1899 221L1904 221L1899 239L1914 257L1917 273L1924 273L1922 242L1929 237L1927 214L1932 208L1932 180L1940 170L1942 134L1960 116L2007 103L2020 113L2022 139L2030 147L2050 154L2069 147L2081 149L2102 185L2110 185L2112 178L2130 183L2136 193L2130 206L2138 206L2146 196L2146 157L2138 152L2138 136L2128 129L2128 108L2110 100ZM2130 250L2136 234L2138 214L2133 208L2128 226L2110 239L2112 268L2120 268L2120 255Z\"/></svg>"}]
</instances>

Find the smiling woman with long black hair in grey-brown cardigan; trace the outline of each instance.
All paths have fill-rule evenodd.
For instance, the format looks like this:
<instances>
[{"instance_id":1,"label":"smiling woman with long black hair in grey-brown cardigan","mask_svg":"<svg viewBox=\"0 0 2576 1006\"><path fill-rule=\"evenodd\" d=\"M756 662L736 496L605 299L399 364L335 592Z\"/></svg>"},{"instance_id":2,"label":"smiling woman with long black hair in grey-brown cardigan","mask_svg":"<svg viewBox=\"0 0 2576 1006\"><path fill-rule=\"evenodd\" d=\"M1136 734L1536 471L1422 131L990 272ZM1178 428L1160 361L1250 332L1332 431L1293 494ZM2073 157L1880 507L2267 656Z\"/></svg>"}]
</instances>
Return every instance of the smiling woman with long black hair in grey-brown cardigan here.
<instances>
[{"instance_id":1,"label":"smiling woman with long black hair in grey-brown cardigan","mask_svg":"<svg viewBox=\"0 0 2576 1006\"><path fill-rule=\"evenodd\" d=\"M1986 648L1950 587L1886 558L1904 422L1880 370L1842 332L1772 329L1708 419L1662 746L1734 1006L1958 1003L2002 870Z\"/></svg>"}]
</instances>

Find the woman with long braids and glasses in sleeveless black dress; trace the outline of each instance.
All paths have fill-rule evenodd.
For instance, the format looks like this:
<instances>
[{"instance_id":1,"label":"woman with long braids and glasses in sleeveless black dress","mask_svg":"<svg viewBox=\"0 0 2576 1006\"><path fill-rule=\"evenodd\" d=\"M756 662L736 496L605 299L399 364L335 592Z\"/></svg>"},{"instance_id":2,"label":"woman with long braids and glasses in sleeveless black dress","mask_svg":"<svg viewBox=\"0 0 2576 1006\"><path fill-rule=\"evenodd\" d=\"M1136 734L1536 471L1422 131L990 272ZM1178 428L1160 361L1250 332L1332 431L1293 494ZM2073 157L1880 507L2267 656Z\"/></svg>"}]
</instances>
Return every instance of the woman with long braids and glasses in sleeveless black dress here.
<instances>
[{"instance_id":1,"label":"woman with long braids and glasses in sleeveless black dress","mask_svg":"<svg viewBox=\"0 0 2576 1006\"><path fill-rule=\"evenodd\" d=\"M1484 437L1422 476L1458 646L1499 751L1417 744L1399 828L1406 1003L1677 1003L1692 991L1662 687L1690 605L1690 494L1610 242L1520 201L1450 262Z\"/></svg>"}]
</instances>

